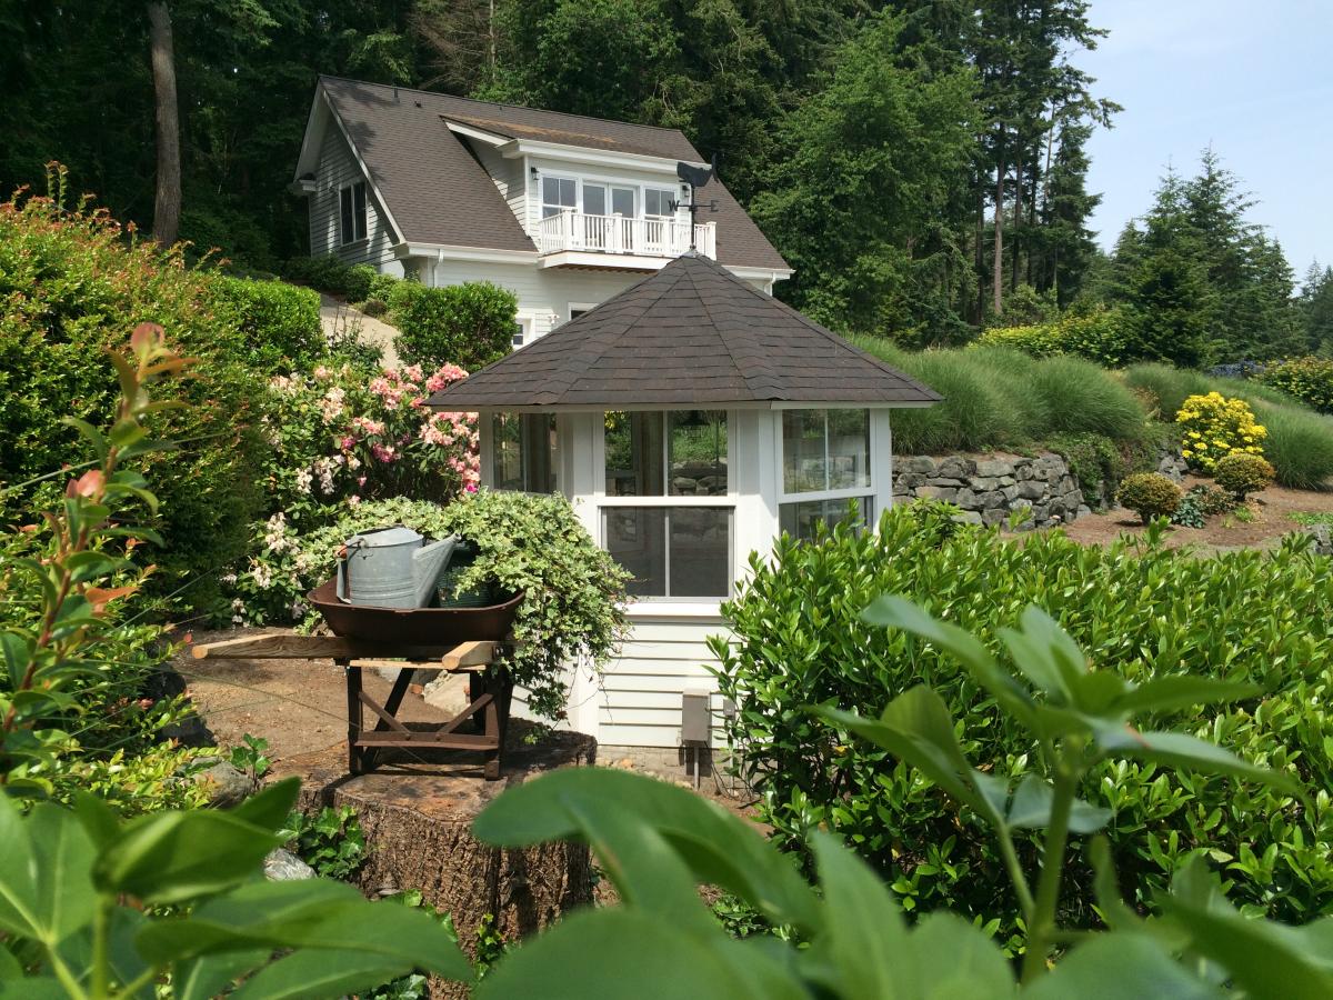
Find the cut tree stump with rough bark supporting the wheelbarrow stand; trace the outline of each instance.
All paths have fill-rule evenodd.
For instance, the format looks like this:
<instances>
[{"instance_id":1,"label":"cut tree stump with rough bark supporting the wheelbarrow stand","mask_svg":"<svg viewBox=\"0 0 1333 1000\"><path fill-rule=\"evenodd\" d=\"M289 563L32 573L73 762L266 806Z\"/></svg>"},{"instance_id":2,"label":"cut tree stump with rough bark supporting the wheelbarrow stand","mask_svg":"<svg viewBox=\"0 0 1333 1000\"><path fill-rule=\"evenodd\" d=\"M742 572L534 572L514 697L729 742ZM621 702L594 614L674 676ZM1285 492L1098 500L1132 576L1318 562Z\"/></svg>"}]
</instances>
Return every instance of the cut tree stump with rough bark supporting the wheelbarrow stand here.
<instances>
[{"instance_id":1,"label":"cut tree stump with rough bark supporting the wheelbarrow stand","mask_svg":"<svg viewBox=\"0 0 1333 1000\"><path fill-rule=\"evenodd\" d=\"M472 836L472 821L511 784L561 767L591 765L597 743L583 733L544 733L533 745L532 725L509 724L504 773L481 776L479 753L381 752L375 771L347 773L347 747L289 757L275 777L301 779L297 808L351 805L365 831L368 857L355 884L375 899L420 889L424 900L453 916L459 940L476 956L477 928L493 915L505 941L539 931L567 911L592 901L589 851L580 844L503 849ZM457 983L432 980L432 997L467 997Z\"/></svg>"}]
</instances>

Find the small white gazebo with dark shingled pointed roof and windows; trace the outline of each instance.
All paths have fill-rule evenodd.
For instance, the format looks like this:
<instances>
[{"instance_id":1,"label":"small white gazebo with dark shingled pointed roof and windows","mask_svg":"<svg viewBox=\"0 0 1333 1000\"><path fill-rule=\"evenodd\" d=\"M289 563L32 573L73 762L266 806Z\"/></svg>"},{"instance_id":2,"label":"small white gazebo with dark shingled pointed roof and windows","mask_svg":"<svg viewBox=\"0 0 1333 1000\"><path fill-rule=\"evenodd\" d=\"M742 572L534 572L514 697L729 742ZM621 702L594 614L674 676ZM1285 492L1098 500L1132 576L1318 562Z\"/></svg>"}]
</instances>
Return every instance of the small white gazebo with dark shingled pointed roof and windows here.
<instances>
[{"instance_id":1,"label":"small white gazebo with dark shingled pointed roof and windows","mask_svg":"<svg viewBox=\"0 0 1333 1000\"><path fill-rule=\"evenodd\" d=\"M852 499L873 523L893 501L890 411L938 399L688 253L429 405L481 415L484 485L563 493L633 573L633 635L601 688L576 680L572 728L678 747L750 552Z\"/></svg>"}]
</instances>

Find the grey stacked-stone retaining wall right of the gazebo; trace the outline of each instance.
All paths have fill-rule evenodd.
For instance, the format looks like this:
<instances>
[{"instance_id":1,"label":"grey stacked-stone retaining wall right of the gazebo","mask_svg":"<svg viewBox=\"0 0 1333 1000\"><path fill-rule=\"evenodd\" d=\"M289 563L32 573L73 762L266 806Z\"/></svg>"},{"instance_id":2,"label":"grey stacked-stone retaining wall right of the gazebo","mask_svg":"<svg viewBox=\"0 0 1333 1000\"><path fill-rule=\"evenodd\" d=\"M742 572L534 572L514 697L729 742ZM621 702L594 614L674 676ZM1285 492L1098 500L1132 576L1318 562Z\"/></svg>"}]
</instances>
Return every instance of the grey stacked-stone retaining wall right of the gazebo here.
<instances>
[{"instance_id":1,"label":"grey stacked-stone retaining wall right of the gazebo","mask_svg":"<svg viewBox=\"0 0 1333 1000\"><path fill-rule=\"evenodd\" d=\"M948 500L973 524L1001 524L1014 511L1024 511L1024 527L1052 528L1092 513L1069 463L1054 452L977 459L918 455L897 459L894 467L894 503Z\"/></svg>"}]
</instances>

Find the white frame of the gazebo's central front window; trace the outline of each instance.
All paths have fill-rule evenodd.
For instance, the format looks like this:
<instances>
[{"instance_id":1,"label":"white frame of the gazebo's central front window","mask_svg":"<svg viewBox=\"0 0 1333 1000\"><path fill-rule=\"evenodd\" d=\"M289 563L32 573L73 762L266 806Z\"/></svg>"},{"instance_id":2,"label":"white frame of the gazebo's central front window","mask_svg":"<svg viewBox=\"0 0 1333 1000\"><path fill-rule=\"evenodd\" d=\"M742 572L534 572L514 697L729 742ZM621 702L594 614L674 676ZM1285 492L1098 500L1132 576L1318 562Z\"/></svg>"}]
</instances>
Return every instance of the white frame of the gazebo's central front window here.
<instances>
[{"instance_id":1,"label":"white frame of the gazebo's central front window","mask_svg":"<svg viewBox=\"0 0 1333 1000\"><path fill-rule=\"evenodd\" d=\"M689 409L708 409L708 407L689 407ZM666 413L686 412L685 409L651 409L644 411L663 416ZM726 492L716 496L611 496L607 493L607 432L605 412L601 413L601 433L595 436L592 459L595 471L595 489L592 504L596 508L596 532L599 548L607 549L607 519L605 511L616 507L710 507L730 511L728 545L726 545L726 596L725 597L677 597L657 595L635 595L631 597L629 611L649 612L657 615L670 615L681 612L697 615L704 611L716 613L722 601L730 600L736 595L737 568L740 561L736 555L737 515L740 507L740 493L736 489L736 429L738 425L737 413L726 411ZM670 441L663 433L663 463L668 461ZM669 469L668 469L669 471ZM668 484L669 488L669 484Z\"/></svg>"}]
</instances>

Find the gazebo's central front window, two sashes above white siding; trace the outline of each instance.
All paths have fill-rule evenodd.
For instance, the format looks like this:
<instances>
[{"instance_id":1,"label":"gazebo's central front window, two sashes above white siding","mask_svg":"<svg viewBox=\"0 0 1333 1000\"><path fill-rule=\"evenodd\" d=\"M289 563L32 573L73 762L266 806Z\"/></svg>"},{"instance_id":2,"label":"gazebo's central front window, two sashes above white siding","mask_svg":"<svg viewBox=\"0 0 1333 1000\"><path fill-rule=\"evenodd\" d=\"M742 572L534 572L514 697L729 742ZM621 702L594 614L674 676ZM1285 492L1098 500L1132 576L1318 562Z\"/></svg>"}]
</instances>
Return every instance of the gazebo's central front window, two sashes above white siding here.
<instances>
[{"instance_id":1,"label":"gazebo's central front window, two sashes above white siding","mask_svg":"<svg viewBox=\"0 0 1333 1000\"><path fill-rule=\"evenodd\" d=\"M722 411L605 416L603 544L637 597L713 599L733 579Z\"/></svg>"}]
</instances>

